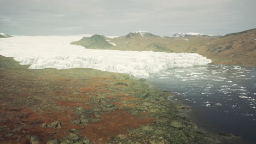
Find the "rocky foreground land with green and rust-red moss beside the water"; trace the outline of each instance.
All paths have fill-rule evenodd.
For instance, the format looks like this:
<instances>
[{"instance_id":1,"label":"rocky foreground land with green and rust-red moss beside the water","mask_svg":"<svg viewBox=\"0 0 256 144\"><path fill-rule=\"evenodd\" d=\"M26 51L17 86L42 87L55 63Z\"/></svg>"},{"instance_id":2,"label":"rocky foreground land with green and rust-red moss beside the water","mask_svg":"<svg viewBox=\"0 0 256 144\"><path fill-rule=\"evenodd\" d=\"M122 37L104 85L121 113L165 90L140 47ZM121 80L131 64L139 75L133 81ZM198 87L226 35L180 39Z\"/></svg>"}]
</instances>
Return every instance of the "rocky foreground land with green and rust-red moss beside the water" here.
<instances>
[{"instance_id":1,"label":"rocky foreground land with green and rust-red moss beside the water","mask_svg":"<svg viewBox=\"0 0 256 144\"><path fill-rule=\"evenodd\" d=\"M0 56L0 142L241 143L200 131L184 105L127 74L88 68L27 69Z\"/></svg>"}]
</instances>

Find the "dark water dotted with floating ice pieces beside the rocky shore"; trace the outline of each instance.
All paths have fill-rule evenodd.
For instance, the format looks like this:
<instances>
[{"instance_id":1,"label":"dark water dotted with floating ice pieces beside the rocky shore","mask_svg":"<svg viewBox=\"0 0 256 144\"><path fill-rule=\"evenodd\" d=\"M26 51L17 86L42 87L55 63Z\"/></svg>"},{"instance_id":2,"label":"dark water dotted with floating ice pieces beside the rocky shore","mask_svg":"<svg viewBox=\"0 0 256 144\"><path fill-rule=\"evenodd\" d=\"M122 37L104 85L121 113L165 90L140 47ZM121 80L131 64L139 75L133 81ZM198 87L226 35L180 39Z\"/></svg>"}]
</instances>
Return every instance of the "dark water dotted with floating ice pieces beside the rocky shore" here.
<instances>
[{"instance_id":1,"label":"dark water dotted with floating ice pieces beside the rocky shore","mask_svg":"<svg viewBox=\"0 0 256 144\"><path fill-rule=\"evenodd\" d=\"M256 67L238 65L172 68L151 74L155 88L192 107L203 127L256 142Z\"/></svg>"}]
</instances>

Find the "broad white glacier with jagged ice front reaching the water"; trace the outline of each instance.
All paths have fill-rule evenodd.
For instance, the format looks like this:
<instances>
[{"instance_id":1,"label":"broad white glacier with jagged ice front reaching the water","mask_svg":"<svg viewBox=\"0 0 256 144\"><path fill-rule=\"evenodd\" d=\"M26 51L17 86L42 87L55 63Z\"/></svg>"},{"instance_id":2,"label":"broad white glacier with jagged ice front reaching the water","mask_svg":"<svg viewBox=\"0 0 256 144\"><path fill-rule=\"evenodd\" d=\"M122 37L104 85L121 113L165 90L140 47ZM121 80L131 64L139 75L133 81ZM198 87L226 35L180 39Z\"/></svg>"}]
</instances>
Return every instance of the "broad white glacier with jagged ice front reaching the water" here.
<instances>
[{"instance_id":1,"label":"broad white glacier with jagged ice front reaching the water","mask_svg":"<svg viewBox=\"0 0 256 144\"><path fill-rule=\"evenodd\" d=\"M153 51L92 50L71 45L82 35L15 36L0 39L0 55L14 57L30 69L93 68L147 78L173 67L192 67L211 62L197 53L166 53Z\"/></svg>"}]
</instances>

